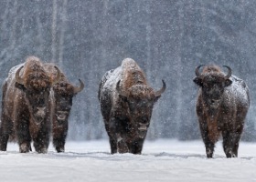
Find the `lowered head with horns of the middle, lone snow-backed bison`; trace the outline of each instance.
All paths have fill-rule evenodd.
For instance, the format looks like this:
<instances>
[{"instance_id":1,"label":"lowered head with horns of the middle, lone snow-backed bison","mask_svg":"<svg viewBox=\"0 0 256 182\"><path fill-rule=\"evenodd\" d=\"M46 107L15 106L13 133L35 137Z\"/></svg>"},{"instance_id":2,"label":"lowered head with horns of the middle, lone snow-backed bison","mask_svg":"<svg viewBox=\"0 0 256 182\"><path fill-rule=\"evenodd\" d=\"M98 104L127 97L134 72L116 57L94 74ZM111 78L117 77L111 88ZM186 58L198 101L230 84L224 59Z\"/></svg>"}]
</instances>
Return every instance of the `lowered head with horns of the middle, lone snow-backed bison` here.
<instances>
[{"instance_id":1,"label":"lowered head with horns of the middle, lone snow-backed bison","mask_svg":"<svg viewBox=\"0 0 256 182\"><path fill-rule=\"evenodd\" d=\"M138 128L138 134L141 138L146 135L153 106L161 94L165 92L165 87L165 81L163 80L163 87L156 92L146 85L134 85L123 92L120 88L120 81L117 83L117 92L123 101L127 103L130 119L133 125Z\"/></svg>"}]
</instances>

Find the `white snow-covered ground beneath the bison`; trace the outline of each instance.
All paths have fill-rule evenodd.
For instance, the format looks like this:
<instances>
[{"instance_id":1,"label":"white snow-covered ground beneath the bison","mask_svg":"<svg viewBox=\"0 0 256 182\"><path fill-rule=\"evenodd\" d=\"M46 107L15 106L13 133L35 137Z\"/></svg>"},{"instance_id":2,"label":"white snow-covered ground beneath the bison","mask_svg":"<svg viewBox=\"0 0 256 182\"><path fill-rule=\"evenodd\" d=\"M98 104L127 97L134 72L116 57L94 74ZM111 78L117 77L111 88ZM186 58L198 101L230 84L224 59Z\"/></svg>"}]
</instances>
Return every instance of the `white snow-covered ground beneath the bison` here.
<instances>
[{"instance_id":1,"label":"white snow-covered ground beneath the bison","mask_svg":"<svg viewBox=\"0 0 256 182\"><path fill-rule=\"evenodd\" d=\"M241 143L238 158L216 147L206 158L201 141L146 141L143 155L111 155L107 140L69 142L66 153L19 154L9 143L0 152L0 181L256 181L256 143Z\"/></svg>"}]
</instances>

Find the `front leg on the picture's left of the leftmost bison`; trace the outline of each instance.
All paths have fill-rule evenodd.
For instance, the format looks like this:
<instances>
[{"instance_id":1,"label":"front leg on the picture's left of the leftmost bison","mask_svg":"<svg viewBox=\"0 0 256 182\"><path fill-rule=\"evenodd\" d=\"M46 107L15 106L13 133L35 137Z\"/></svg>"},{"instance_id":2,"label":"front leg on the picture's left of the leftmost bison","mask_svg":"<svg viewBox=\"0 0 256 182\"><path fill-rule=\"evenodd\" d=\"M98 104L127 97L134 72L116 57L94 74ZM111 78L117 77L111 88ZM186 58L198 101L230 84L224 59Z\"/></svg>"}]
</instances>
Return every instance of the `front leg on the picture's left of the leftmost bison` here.
<instances>
[{"instance_id":1,"label":"front leg on the picture's left of the leftmost bison","mask_svg":"<svg viewBox=\"0 0 256 182\"><path fill-rule=\"evenodd\" d=\"M30 150L31 136L28 129L28 122L19 120L16 122L16 136L20 153L27 153Z\"/></svg>"}]
</instances>

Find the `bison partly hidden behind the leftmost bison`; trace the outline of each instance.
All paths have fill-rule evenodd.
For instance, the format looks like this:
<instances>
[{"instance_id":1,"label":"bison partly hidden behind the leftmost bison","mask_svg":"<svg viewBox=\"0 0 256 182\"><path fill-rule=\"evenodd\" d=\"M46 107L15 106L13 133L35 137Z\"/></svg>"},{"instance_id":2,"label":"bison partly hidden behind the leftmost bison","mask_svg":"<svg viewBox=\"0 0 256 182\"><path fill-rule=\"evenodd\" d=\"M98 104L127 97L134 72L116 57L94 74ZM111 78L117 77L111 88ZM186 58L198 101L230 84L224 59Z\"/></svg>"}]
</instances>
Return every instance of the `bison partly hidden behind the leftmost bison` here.
<instances>
[{"instance_id":1,"label":"bison partly hidden behind the leftmost bison","mask_svg":"<svg viewBox=\"0 0 256 182\"><path fill-rule=\"evenodd\" d=\"M45 67L52 79L56 78L57 71L54 64L45 64ZM69 127L69 113L72 106L72 99L79 93L84 84L72 86L67 77L61 72L59 82L52 86L53 90L53 116L52 116L52 139L53 146L57 152L65 151L65 142Z\"/></svg>"}]
</instances>

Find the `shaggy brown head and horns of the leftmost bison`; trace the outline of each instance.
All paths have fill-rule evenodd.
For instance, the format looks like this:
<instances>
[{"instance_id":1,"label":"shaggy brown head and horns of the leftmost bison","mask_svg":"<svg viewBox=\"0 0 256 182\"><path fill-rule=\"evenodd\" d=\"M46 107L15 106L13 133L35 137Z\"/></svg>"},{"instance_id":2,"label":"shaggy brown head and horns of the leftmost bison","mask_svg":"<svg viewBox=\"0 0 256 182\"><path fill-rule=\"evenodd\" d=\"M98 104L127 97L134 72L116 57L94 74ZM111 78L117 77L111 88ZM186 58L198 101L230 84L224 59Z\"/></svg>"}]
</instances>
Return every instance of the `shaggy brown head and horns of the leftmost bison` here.
<instances>
[{"instance_id":1,"label":"shaggy brown head and horns of the leftmost bison","mask_svg":"<svg viewBox=\"0 0 256 182\"><path fill-rule=\"evenodd\" d=\"M55 67L58 71L58 76L56 79L51 80L40 65L33 66L26 74L23 73L23 76L20 76L22 68L23 66L16 71L16 87L25 92L29 112L34 117L35 122L39 124L46 117L49 90L53 84L58 82L60 72L58 67Z\"/></svg>"}]
</instances>

